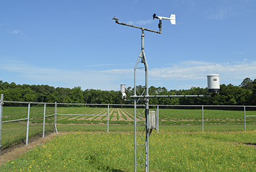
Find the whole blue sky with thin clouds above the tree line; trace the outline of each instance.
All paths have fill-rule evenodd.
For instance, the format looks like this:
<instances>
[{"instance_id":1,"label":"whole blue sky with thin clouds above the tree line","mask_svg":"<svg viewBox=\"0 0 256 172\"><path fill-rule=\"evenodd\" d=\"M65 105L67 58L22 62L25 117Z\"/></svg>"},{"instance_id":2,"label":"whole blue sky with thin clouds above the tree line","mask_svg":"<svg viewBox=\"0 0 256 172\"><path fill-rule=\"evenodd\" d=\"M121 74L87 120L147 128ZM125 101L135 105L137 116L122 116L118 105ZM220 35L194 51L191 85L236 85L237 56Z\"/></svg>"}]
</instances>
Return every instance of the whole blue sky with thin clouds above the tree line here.
<instances>
[{"instance_id":1,"label":"whole blue sky with thin clouds above the tree line","mask_svg":"<svg viewBox=\"0 0 256 172\"><path fill-rule=\"evenodd\" d=\"M166 89L207 87L207 75L239 85L256 78L256 1L1 1L0 80L17 84L119 90L133 87L141 31L148 83ZM144 85L144 73L138 73Z\"/></svg>"}]
</instances>

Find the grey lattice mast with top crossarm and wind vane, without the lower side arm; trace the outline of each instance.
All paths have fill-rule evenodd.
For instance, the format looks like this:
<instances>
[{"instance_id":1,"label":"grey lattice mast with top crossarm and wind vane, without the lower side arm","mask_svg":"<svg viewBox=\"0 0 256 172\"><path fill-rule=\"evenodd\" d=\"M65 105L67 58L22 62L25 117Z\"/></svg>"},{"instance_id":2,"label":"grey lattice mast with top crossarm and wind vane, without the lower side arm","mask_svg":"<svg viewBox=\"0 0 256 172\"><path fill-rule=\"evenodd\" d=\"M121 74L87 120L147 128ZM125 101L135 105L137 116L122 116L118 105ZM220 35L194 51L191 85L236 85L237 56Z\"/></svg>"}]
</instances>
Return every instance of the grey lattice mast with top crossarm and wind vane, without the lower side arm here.
<instances>
[{"instance_id":1,"label":"grey lattice mast with top crossarm and wind vane, without the lower side arm","mask_svg":"<svg viewBox=\"0 0 256 172\"><path fill-rule=\"evenodd\" d=\"M156 17L156 14L154 14L153 19L154 18L159 19L159 24L158 24L159 31L154 31L144 27L138 27L136 25L121 23L121 22L118 22L118 18L116 17L113 18L116 24L127 25L129 27L135 27L137 29L141 29L141 51L134 67L134 96L132 96L134 97L134 171L137 171L138 166L145 167L145 171L146 172L148 171L148 150L149 150L148 139L149 139L150 133L152 132L152 129L149 132L149 124L148 124L148 121L149 121L148 119L148 102L149 102L148 64L147 64L147 59L144 51L144 36L145 36L144 31L161 34L162 19L171 20L172 24L174 20L174 24L175 24L175 15L171 15L170 18L166 18L166 17ZM144 66L138 67L139 62L143 63ZM141 93L138 92L138 90L136 89L136 69L145 70L145 89ZM143 101L145 103L145 110L143 110L142 112L140 109L138 109L138 106L140 105L139 104L137 105L138 101L140 101L140 97L144 98ZM145 113L145 116L143 116L143 113ZM141 130L141 127L143 128L142 130ZM143 137L144 133L146 135L145 138Z\"/></svg>"}]
</instances>

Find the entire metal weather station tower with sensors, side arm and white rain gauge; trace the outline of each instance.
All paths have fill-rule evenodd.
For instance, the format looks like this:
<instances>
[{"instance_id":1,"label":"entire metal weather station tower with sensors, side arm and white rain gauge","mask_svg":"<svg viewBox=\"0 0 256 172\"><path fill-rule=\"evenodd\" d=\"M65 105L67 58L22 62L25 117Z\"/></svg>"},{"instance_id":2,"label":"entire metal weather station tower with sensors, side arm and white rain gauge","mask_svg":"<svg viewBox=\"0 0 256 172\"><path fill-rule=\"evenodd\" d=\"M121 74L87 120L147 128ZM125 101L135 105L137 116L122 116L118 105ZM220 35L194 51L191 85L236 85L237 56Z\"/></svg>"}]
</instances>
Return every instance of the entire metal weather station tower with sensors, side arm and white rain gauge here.
<instances>
[{"instance_id":1,"label":"entire metal weather station tower with sensors, side arm and white rain gauge","mask_svg":"<svg viewBox=\"0 0 256 172\"><path fill-rule=\"evenodd\" d=\"M211 97L216 93L220 92L220 75L208 75L208 94L205 95L166 95L166 96L150 96L148 95L148 64L144 50L144 37L145 31L155 32L161 34L162 32L162 20L170 20L171 24L176 24L175 15L172 14L169 17L160 17L155 13L153 15L154 19L159 19L159 31L154 31L152 29L147 29L145 27L139 27L136 25L125 24L119 22L118 18L114 17L116 24L126 25L129 27L134 27L136 29L141 29L141 51L136 61L134 67L134 96L130 96L132 99L127 99L125 94L125 84L121 84L122 99L125 101L134 101L134 171L137 171L138 167L145 168L145 171L149 171L149 136L153 129L157 129L158 114L157 111L149 111L149 98L150 97ZM138 64L141 63L141 66ZM145 89L143 92L139 92L136 89L136 70L143 69L145 71ZM144 101L142 104L145 108L143 111L139 109L141 104L138 101Z\"/></svg>"}]
</instances>

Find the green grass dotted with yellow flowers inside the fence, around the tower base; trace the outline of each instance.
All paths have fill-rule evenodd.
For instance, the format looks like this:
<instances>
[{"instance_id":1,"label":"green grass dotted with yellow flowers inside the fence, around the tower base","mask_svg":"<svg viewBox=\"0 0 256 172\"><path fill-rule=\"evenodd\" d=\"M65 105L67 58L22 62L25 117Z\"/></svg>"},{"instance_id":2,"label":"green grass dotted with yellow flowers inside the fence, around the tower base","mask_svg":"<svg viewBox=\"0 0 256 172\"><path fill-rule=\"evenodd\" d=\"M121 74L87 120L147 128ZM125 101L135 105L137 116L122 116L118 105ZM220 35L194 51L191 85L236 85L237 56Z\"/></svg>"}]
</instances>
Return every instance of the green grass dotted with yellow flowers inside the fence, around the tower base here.
<instances>
[{"instance_id":1,"label":"green grass dotted with yellow flowers inside the fence, around the tower base","mask_svg":"<svg viewBox=\"0 0 256 172\"><path fill-rule=\"evenodd\" d=\"M256 133L152 133L150 171L255 171ZM58 136L0 171L134 171L134 134ZM138 168L144 171L144 168Z\"/></svg>"}]
</instances>

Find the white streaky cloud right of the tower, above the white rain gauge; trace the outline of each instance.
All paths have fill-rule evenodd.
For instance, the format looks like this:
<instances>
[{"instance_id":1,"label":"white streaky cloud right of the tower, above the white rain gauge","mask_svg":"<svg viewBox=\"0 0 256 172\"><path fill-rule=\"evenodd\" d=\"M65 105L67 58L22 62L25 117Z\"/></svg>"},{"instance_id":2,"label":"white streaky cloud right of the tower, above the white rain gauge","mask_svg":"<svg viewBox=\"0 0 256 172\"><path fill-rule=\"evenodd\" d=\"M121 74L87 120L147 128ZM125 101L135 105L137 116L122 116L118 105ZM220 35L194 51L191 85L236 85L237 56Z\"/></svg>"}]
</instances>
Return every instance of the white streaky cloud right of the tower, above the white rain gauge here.
<instances>
[{"instance_id":1,"label":"white streaky cloud right of the tower, above the white rain gauge","mask_svg":"<svg viewBox=\"0 0 256 172\"><path fill-rule=\"evenodd\" d=\"M188 61L169 68L151 69L149 75L154 80L201 80L210 74L219 74L224 79L244 79L246 77L256 78L255 71L256 61L248 61L248 59L242 62L219 64Z\"/></svg>"}]
</instances>

